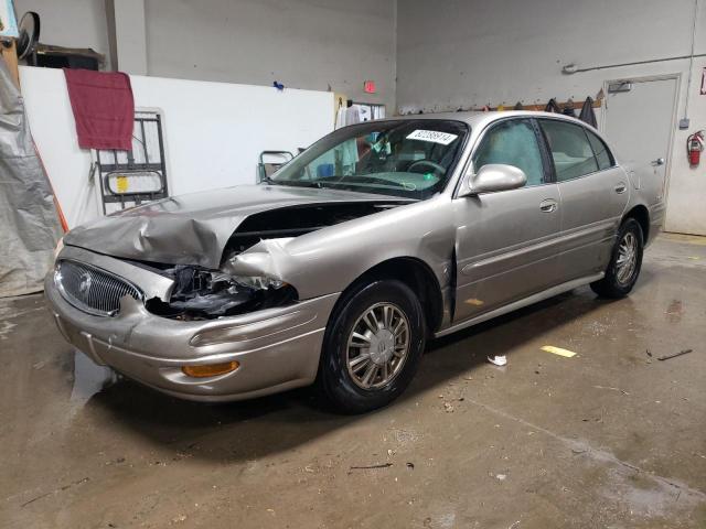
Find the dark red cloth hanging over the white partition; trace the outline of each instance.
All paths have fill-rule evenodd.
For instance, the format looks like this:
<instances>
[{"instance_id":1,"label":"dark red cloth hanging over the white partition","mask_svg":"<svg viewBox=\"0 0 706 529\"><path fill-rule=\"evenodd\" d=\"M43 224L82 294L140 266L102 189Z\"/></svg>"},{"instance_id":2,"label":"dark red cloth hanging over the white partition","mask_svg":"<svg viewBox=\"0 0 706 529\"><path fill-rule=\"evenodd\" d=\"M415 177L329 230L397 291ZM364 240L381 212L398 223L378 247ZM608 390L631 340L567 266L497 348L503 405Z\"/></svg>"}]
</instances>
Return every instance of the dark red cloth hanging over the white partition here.
<instances>
[{"instance_id":1,"label":"dark red cloth hanging over the white partition","mask_svg":"<svg viewBox=\"0 0 706 529\"><path fill-rule=\"evenodd\" d=\"M121 72L64 68L82 149L132 150L135 100Z\"/></svg>"}]
</instances>

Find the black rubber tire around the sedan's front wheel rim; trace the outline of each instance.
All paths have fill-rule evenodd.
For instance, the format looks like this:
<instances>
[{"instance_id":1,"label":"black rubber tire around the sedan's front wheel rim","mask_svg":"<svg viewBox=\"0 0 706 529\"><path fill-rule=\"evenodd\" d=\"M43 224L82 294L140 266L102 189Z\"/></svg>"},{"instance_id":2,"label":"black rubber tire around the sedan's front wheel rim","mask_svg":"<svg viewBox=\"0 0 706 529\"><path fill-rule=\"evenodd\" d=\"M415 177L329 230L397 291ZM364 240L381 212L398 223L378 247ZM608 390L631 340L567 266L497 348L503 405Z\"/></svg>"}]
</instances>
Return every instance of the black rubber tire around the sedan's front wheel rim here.
<instances>
[{"instance_id":1,"label":"black rubber tire around the sedan's front wheel rim","mask_svg":"<svg viewBox=\"0 0 706 529\"><path fill-rule=\"evenodd\" d=\"M394 305L405 316L409 331L408 348L399 370L387 384L364 389L349 371L349 337L354 326L362 324L360 320L363 315L371 307L383 303ZM382 307L378 306L378 310ZM397 344L396 338L392 337L392 341L394 347L394 344ZM322 403L333 411L349 414L363 413L388 404L414 378L424 347L424 314L419 300L409 287L402 281L385 279L352 289L344 294L327 326L317 376L317 389L319 397L323 399ZM372 350L372 347L368 350ZM363 354L363 349L360 354ZM382 370L382 367L379 369ZM377 377L376 371L373 378ZM379 379L382 384L382 373Z\"/></svg>"}]
</instances>

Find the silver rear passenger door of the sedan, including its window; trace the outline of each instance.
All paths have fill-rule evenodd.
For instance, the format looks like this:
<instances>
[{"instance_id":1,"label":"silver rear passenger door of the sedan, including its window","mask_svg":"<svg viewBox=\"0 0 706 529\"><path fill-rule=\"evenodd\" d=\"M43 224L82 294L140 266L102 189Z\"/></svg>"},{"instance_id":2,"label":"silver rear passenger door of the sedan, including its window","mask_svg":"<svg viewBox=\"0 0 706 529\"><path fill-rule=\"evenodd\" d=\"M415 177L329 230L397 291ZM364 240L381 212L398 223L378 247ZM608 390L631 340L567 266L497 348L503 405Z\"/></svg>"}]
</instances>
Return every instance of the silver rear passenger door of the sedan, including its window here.
<instances>
[{"instance_id":1,"label":"silver rear passenger door of the sedan, including its window","mask_svg":"<svg viewBox=\"0 0 706 529\"><path fill-rule=\"evenodd\" d=\"M550 118L539 123L561 198L559 272L565 281L601 272L630 197L628 177L590 129Z\"/></svg>"}]
</instances>

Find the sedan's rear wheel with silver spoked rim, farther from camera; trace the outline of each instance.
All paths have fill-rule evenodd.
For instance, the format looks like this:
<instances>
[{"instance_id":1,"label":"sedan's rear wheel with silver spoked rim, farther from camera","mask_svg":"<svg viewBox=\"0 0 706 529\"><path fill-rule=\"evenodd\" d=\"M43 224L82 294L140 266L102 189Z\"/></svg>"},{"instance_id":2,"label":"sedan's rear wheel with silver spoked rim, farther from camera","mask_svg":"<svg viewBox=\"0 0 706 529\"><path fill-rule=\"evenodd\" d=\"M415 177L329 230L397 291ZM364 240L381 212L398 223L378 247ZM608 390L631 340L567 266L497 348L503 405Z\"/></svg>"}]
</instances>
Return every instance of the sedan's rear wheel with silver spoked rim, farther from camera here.
<instances>
[{"instance_id":1,"label":"sedan's rear wheel with silver spoked rim, farther from camera","mask_svg":"<svg viewBox=\"0 0 706 529\"><path fill-rule=\"evenodd\" d=\"M591 283L591 289L603 298L623 298L630 293L640 276L644 241L642 227L634 218L625 219L606 270L606 277Z\"/></svg>"}]
</instances>

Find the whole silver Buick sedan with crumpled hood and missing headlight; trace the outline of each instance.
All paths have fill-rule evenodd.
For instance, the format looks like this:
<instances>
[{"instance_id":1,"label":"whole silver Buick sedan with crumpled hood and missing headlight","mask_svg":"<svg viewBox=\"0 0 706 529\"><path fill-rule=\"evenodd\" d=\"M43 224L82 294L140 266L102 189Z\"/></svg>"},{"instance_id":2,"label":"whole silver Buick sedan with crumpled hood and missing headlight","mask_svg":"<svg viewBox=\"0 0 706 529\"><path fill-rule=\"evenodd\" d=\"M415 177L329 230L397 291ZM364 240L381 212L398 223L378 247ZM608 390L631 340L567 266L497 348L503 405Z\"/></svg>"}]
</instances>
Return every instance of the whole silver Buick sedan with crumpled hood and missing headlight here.
<instances>
[{"instance_id":1,"label":"whole silver Buick sedan with crumpled hood and missing headlight","mask_svg":"<svg viewBox=\"0 0 706 529\"><path fill-rule=\"evenodd\" d=\"M584 284L628 294L662 185L559 115L365 122L258 185L73 229L46 298L68 342L165 393L313 382L362 412L404 391L429 338Z\"/></svg>"}]
</instances>

